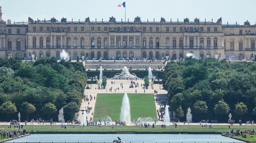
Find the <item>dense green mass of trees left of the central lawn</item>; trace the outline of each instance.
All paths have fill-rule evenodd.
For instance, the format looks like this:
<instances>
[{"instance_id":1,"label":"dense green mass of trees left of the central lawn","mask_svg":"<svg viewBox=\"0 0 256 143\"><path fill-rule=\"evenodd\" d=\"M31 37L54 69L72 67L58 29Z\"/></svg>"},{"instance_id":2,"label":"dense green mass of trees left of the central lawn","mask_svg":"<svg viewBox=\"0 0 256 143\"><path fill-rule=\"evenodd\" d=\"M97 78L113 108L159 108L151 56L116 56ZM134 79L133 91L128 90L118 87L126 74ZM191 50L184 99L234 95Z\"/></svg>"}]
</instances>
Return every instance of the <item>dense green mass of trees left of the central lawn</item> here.
<instances>
[{"instance_id":1,"label":"dense green mass of trees left of the central lawn","mask_svg":"<svg viewBox=\"0 0 256 143\"><path fill-rule=\"evenodd\" d=\"M78 112L87 75L82 63L56 58L40 58L35 62L0 59L0 120L21 121L43 118L58 121L58 111L64 108L64 118L70 120Z\"/></svg>"}]
</instances>

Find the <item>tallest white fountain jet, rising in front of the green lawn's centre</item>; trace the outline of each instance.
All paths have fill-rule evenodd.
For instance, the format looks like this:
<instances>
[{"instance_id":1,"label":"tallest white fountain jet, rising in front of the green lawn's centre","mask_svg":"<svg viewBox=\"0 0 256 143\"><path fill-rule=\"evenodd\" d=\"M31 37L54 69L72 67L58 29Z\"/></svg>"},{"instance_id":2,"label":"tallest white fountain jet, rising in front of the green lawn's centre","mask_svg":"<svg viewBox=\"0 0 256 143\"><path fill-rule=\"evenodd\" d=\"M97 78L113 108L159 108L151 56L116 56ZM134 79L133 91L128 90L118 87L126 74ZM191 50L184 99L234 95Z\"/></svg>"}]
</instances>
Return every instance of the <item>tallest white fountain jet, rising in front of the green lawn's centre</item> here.
<instances>
[{"instance_id":1,"label":"tallest white fountain jet, rising in front of the green lawn's centre","mask_svg":"<svg viewBox=\"0 0 256 143\"><path fill-rule=\"evenodd\" d=\"M131 113L130 113L130 103L127 93L124 94L121 113L120 113L120 121L124 121L126 125L130 125L131 123Z\"/></svg>"}]
</instances>

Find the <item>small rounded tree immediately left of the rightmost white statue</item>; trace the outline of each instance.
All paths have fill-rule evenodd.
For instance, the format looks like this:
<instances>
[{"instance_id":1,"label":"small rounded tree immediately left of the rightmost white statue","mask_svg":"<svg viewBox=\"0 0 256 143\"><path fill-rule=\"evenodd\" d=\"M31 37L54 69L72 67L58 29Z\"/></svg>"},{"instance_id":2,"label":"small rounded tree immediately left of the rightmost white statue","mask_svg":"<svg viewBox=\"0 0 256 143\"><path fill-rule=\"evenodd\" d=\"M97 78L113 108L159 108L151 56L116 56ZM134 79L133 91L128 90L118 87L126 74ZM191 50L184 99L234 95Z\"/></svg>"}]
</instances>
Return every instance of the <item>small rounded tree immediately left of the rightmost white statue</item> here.
<instances>
[{"instance_id":1,"label":"small rounded tree immediately left of the rightmost white statue","mask_svg":"<svg viewBox=\"0 0 256 143\"><path fill-rule=\"evenodd\" d=\"M222 115L228 114L230 108L228 104L222 99L214 106L214 113L221 115L221 121L222 121Z\"/></svg>"}]
</instances>

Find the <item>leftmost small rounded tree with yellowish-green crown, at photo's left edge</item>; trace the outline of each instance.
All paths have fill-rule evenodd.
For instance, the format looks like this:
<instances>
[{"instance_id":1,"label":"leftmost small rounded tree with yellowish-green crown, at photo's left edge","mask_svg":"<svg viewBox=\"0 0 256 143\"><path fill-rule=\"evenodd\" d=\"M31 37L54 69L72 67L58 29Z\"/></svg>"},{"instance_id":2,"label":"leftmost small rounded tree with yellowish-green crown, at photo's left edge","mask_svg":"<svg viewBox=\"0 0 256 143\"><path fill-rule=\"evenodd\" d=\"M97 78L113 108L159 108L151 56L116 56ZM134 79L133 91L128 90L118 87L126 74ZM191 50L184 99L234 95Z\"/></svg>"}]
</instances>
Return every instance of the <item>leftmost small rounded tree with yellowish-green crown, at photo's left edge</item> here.
<instances>
[{"instance_id":1,"label":"leftmost small rounded tree with yellowish-green crown, at photo's left edge","mask_svg":"<svg viewBox=\"0 0 256 143\"><path fill-rule=\"evenodd\" d=\"M7 121L9 121L9 114L17 112L17 107L11 101L6 101L0 106L0 111L7 114Z\"/></svg>"}]
</instances>

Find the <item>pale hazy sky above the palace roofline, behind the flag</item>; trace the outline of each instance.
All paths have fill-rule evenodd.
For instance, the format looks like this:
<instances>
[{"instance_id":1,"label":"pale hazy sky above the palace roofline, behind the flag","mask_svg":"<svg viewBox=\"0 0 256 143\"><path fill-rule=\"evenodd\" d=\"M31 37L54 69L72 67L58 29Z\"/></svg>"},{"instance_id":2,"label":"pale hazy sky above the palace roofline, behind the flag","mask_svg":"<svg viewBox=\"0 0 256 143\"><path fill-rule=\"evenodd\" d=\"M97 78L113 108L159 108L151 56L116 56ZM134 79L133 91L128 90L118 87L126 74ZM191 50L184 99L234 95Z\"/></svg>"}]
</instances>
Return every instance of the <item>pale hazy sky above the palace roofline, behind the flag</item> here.
<instances>
[{"instance_id":1,"label":"pale hazy sky above the palace roofline, behind the flag","mask_svg":"<svg viewBox=\"0 0 256 143\"><path fill-rule=\"evenodd\" d=\"M2 7L2 19L11 22L27 22L28 17L33 20L50 20L55 17L58 21L62 17L67 21L84 21L90 17L91 21L108 21L114 16L117 21L123 18L125 8L117 5L123 0L0 0ZM166 21L183 21L188 17L193 21L196 17L200 21L214 22L222 17L222 24L242 25L246 20L251 25L255 24L256 0L125 0L126 21L133 21L135 17L141 17L142 21L160 21L161 17Z\"/></svg>"}]
</instances>

